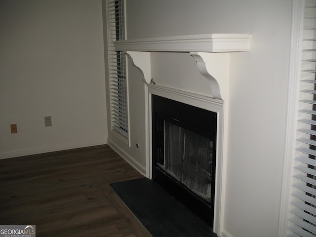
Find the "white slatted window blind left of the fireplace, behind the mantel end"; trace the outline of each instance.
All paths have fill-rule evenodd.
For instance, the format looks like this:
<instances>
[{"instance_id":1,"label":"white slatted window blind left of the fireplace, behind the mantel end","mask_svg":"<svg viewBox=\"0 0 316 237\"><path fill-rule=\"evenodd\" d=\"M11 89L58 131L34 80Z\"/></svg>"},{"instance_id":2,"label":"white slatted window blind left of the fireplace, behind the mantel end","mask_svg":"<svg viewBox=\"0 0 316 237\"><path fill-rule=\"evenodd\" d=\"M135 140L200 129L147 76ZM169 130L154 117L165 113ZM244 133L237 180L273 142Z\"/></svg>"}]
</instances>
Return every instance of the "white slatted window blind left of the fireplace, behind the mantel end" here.
<instances>
[{"instance_id":1,"label":"white slatted window blind left of the fireplace, behind the mantel end","mask_svg":"<svg viewBox=\"0 0 316 237\"><path fill-rule=\"evenodd\" d=\"M110 79L111 128L128 136L125 56L113 42L125 39L124 0L107 0L108 64Z\"/></svg>"}]
</instances>

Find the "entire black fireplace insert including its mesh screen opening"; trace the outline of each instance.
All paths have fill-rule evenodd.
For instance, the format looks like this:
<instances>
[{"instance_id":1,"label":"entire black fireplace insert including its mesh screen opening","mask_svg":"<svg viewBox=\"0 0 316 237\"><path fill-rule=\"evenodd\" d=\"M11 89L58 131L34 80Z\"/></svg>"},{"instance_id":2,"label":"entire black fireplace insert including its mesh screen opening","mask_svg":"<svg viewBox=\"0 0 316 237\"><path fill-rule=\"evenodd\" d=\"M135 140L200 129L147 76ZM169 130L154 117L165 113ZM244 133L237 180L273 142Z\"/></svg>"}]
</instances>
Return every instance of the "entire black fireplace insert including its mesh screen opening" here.
<instances>
[{"instance_id":1,"label":"entire black fireplace insert including its mesh screen opening","mask_svg":"<svg viewBox=\"0 0 316 237\"><path fill-rule=\"evenodd\" d=\"M213 228L217 114L152 95L153 180Z\"/></svg>"}]
</instances>

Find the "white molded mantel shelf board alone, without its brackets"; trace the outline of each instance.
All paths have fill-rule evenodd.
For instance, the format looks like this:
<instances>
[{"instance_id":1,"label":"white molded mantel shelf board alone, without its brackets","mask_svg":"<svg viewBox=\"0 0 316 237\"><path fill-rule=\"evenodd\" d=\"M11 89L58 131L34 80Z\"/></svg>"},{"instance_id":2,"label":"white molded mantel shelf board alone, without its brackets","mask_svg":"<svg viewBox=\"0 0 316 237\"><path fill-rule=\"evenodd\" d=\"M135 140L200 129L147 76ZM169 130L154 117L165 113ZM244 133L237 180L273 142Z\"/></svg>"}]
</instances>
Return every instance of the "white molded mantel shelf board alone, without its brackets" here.
<instances>
[{"instance_id":1,"label":"white molded mantel shelf board alone, without its brackets","mask_svg":"<svg viewBox=\"0 0 316 237\"><path fill-rule=\"evenodd\" d=\"M240 52L250 50L249 34L204 34L114 42L116 51Z\"/></svg>"}]
</instances>

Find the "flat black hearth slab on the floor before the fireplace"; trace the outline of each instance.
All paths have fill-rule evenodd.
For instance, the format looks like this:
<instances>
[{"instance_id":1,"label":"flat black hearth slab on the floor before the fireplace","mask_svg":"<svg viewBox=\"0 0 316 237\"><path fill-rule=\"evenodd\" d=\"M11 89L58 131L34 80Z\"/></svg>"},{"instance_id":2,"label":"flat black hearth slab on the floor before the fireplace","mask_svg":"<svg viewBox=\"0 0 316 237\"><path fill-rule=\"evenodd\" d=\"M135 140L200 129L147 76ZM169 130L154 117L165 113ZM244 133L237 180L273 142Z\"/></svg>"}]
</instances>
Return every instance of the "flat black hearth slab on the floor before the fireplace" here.
<instances>
[{"instance_id":1,"label":"flat black hearth slab on the floor before the fireplace","mask_svg":"<svg viewBox=\"0 0 316 237\"><path fill-rule=\"evenodd\" d=\"M111 187L153 237L217 237L210 226L148 178Z\"/></svg>"}]
</instances>

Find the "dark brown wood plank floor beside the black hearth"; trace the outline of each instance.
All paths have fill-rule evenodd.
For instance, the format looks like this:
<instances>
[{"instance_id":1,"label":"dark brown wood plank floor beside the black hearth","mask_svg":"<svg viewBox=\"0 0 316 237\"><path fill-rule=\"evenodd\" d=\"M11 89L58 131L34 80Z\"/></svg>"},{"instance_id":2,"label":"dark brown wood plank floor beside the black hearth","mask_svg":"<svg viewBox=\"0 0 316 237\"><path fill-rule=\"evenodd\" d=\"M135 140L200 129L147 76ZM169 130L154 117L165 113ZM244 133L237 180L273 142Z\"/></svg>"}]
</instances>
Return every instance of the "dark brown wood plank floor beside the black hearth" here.
<instances>
[{"instance_id":1,"label":"dark brown wood plank floor beside the black hearth","mask_svg":"<svg viewBox=\"0 0 316 237\"><path fill-rule=\"evenodd\" d=\"M110 183L140 178L109 146L0 160L0 225L38 237L150 237Z\"/></svg>"}]
</instances>

